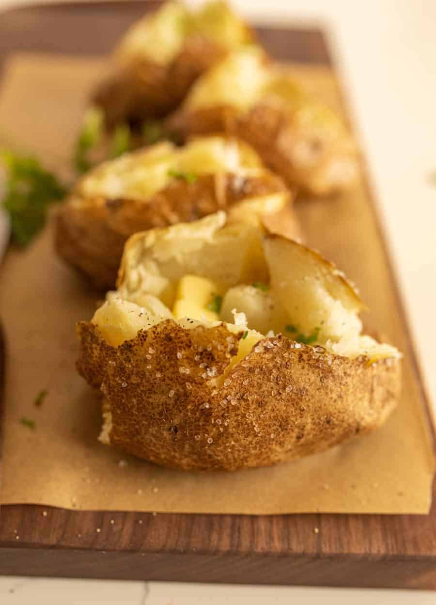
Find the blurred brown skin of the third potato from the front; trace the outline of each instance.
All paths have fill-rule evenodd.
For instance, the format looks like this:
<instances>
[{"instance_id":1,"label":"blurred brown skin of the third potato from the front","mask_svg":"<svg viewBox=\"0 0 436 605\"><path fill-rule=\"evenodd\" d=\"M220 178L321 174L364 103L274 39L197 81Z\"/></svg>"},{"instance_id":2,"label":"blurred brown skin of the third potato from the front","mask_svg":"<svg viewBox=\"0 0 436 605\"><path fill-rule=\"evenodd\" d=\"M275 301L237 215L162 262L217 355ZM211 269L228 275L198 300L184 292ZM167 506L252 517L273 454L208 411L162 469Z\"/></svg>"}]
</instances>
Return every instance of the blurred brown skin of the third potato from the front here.
<instances>
[{"instance_id":1,"label":"blurred brown skin of the third potato from the front","mask_svg":"<svg viewBox=\"0 0 436 605\"><path fill-rule=\"evenodd\" d=\"M190 136L224 133L249 143L268 168L279 174L288 186L314 195L330 195L347 189L356 180L357 160L353 144L343 140L339 148L314 134L302 136L294 128L291 114L279 106L257 103L249 111L238 114L231 106L215 106L197 110L181 108L165 122L166 130L182 142ZM299 143L304 141L307 159L301 161ZM320 170L331 160L342 163L342 175L320 177Z\"/></svg>"}]
</instances>

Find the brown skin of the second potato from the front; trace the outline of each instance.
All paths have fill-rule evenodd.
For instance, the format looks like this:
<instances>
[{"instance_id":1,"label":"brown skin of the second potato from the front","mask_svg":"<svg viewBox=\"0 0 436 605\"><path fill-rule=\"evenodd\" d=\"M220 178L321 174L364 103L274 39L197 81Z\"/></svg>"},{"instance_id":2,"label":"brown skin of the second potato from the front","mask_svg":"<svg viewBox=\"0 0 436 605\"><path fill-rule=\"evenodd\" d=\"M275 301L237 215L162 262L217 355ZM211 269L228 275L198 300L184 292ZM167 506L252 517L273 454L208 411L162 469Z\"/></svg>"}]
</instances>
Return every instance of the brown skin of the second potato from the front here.
<instances>
[{"instance_id":1,"label":"brown skin of the second potato from the front","mask_svg":"<svg viewBox=\"0 0 436 605\"><path fill-rule=\"evenodd\" d=\"M272 172L246 178L228 173L204 175L195 183L174 180L146 201L99 198L78 206L72 197L55 214L56 250L96 288L109 289L130 235L194 221L228 210L240 200L279 191L285 191L285 185ZM296 222L294 228L298 229Z\"/></svg>"}]
</instances>

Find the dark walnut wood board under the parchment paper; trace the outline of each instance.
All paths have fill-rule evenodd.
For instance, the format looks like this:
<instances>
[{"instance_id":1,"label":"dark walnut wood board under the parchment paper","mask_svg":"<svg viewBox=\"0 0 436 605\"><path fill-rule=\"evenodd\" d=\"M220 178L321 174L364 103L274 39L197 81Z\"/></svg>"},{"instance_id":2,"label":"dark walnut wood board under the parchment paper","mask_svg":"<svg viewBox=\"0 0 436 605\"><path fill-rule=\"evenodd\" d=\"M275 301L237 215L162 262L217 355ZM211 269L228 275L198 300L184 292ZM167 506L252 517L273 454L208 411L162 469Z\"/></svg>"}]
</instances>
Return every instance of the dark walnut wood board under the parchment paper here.
<instances>
[{"instance_id":1,"label":"dark walnut wood board under the parchment paper","mask_svg":"<svg viewBox=\"0 0 436 605\"><path fill-rule=\"evenodd\" d=\"M2 13L0 66L18 50L106 53L154 4L74 3ZM319 31L260 28L259 33L279 59L330 64ZM1 365L7 362L3 351L0 339L0 388ZM416 374L419 378L417 367ZM436 588L436 505L429 515L263 517L3 506L0 574Z\"/></svg>"}]
</instances>

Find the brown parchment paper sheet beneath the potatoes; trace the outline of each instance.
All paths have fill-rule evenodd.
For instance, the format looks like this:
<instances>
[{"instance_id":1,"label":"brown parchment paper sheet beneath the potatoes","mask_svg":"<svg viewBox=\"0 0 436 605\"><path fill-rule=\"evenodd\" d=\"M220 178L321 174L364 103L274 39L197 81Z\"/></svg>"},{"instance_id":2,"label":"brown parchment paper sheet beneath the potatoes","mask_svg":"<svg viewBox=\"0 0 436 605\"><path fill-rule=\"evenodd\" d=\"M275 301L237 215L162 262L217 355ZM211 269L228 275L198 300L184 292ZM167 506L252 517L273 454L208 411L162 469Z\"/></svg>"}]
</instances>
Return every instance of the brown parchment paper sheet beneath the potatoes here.
<instances>
[{"instance_id":1,"label":"brown parchment paper sheet beneath the potatoes","mask_svg":"<svg viewBox=\"0 0 436 605\"><path fill-rule=\"evenodd\" d=\"M0 93L0 145L13 142L68 174L68 163L99 60L19 56ZM339 104L327 68L295 67L308 87ZM97 442L100 408L77 376L74 323L97 295L52 249L47 227L0 269L0 316L7 338L1 503L80 509L273 514L425 513L433 456L417 375L399 304L368 203L359 185L345 197L299 203L310 244L335 260L372 309L379 330L405 353L403 395L386 425L326 453L274 468L233 474L169 471ZM40 408L34 399L48 394ZM36 423L31 430L21 417Z\"/></svg>"}]
</instances>

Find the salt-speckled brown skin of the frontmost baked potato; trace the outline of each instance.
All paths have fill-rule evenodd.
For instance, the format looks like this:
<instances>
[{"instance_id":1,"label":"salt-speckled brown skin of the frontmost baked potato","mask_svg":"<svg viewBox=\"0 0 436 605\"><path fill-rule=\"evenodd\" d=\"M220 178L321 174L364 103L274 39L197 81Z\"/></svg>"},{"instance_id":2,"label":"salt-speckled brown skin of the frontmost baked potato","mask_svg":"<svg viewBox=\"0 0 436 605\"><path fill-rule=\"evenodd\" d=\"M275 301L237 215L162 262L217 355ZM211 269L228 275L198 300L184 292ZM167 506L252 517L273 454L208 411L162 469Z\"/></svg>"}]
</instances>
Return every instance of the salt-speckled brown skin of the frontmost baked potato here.
<instances>
[{"instance_id":1,"label":"salt-speckled brown skin of the frontmost baked potato","mask_svg":"<svg viewBox=\"0 0 436 605\"><path fill-rule=\"evenodd\" d=\"M232 471L307 456L378 427L399 394L398 360L368 365L281 335L262 339L218 386L210 375L223 374L242 332L170 319L116 348L94 324L77 331L79 371L111 407L111 444L173 468Z\"/></svg>"}]
</instances>

